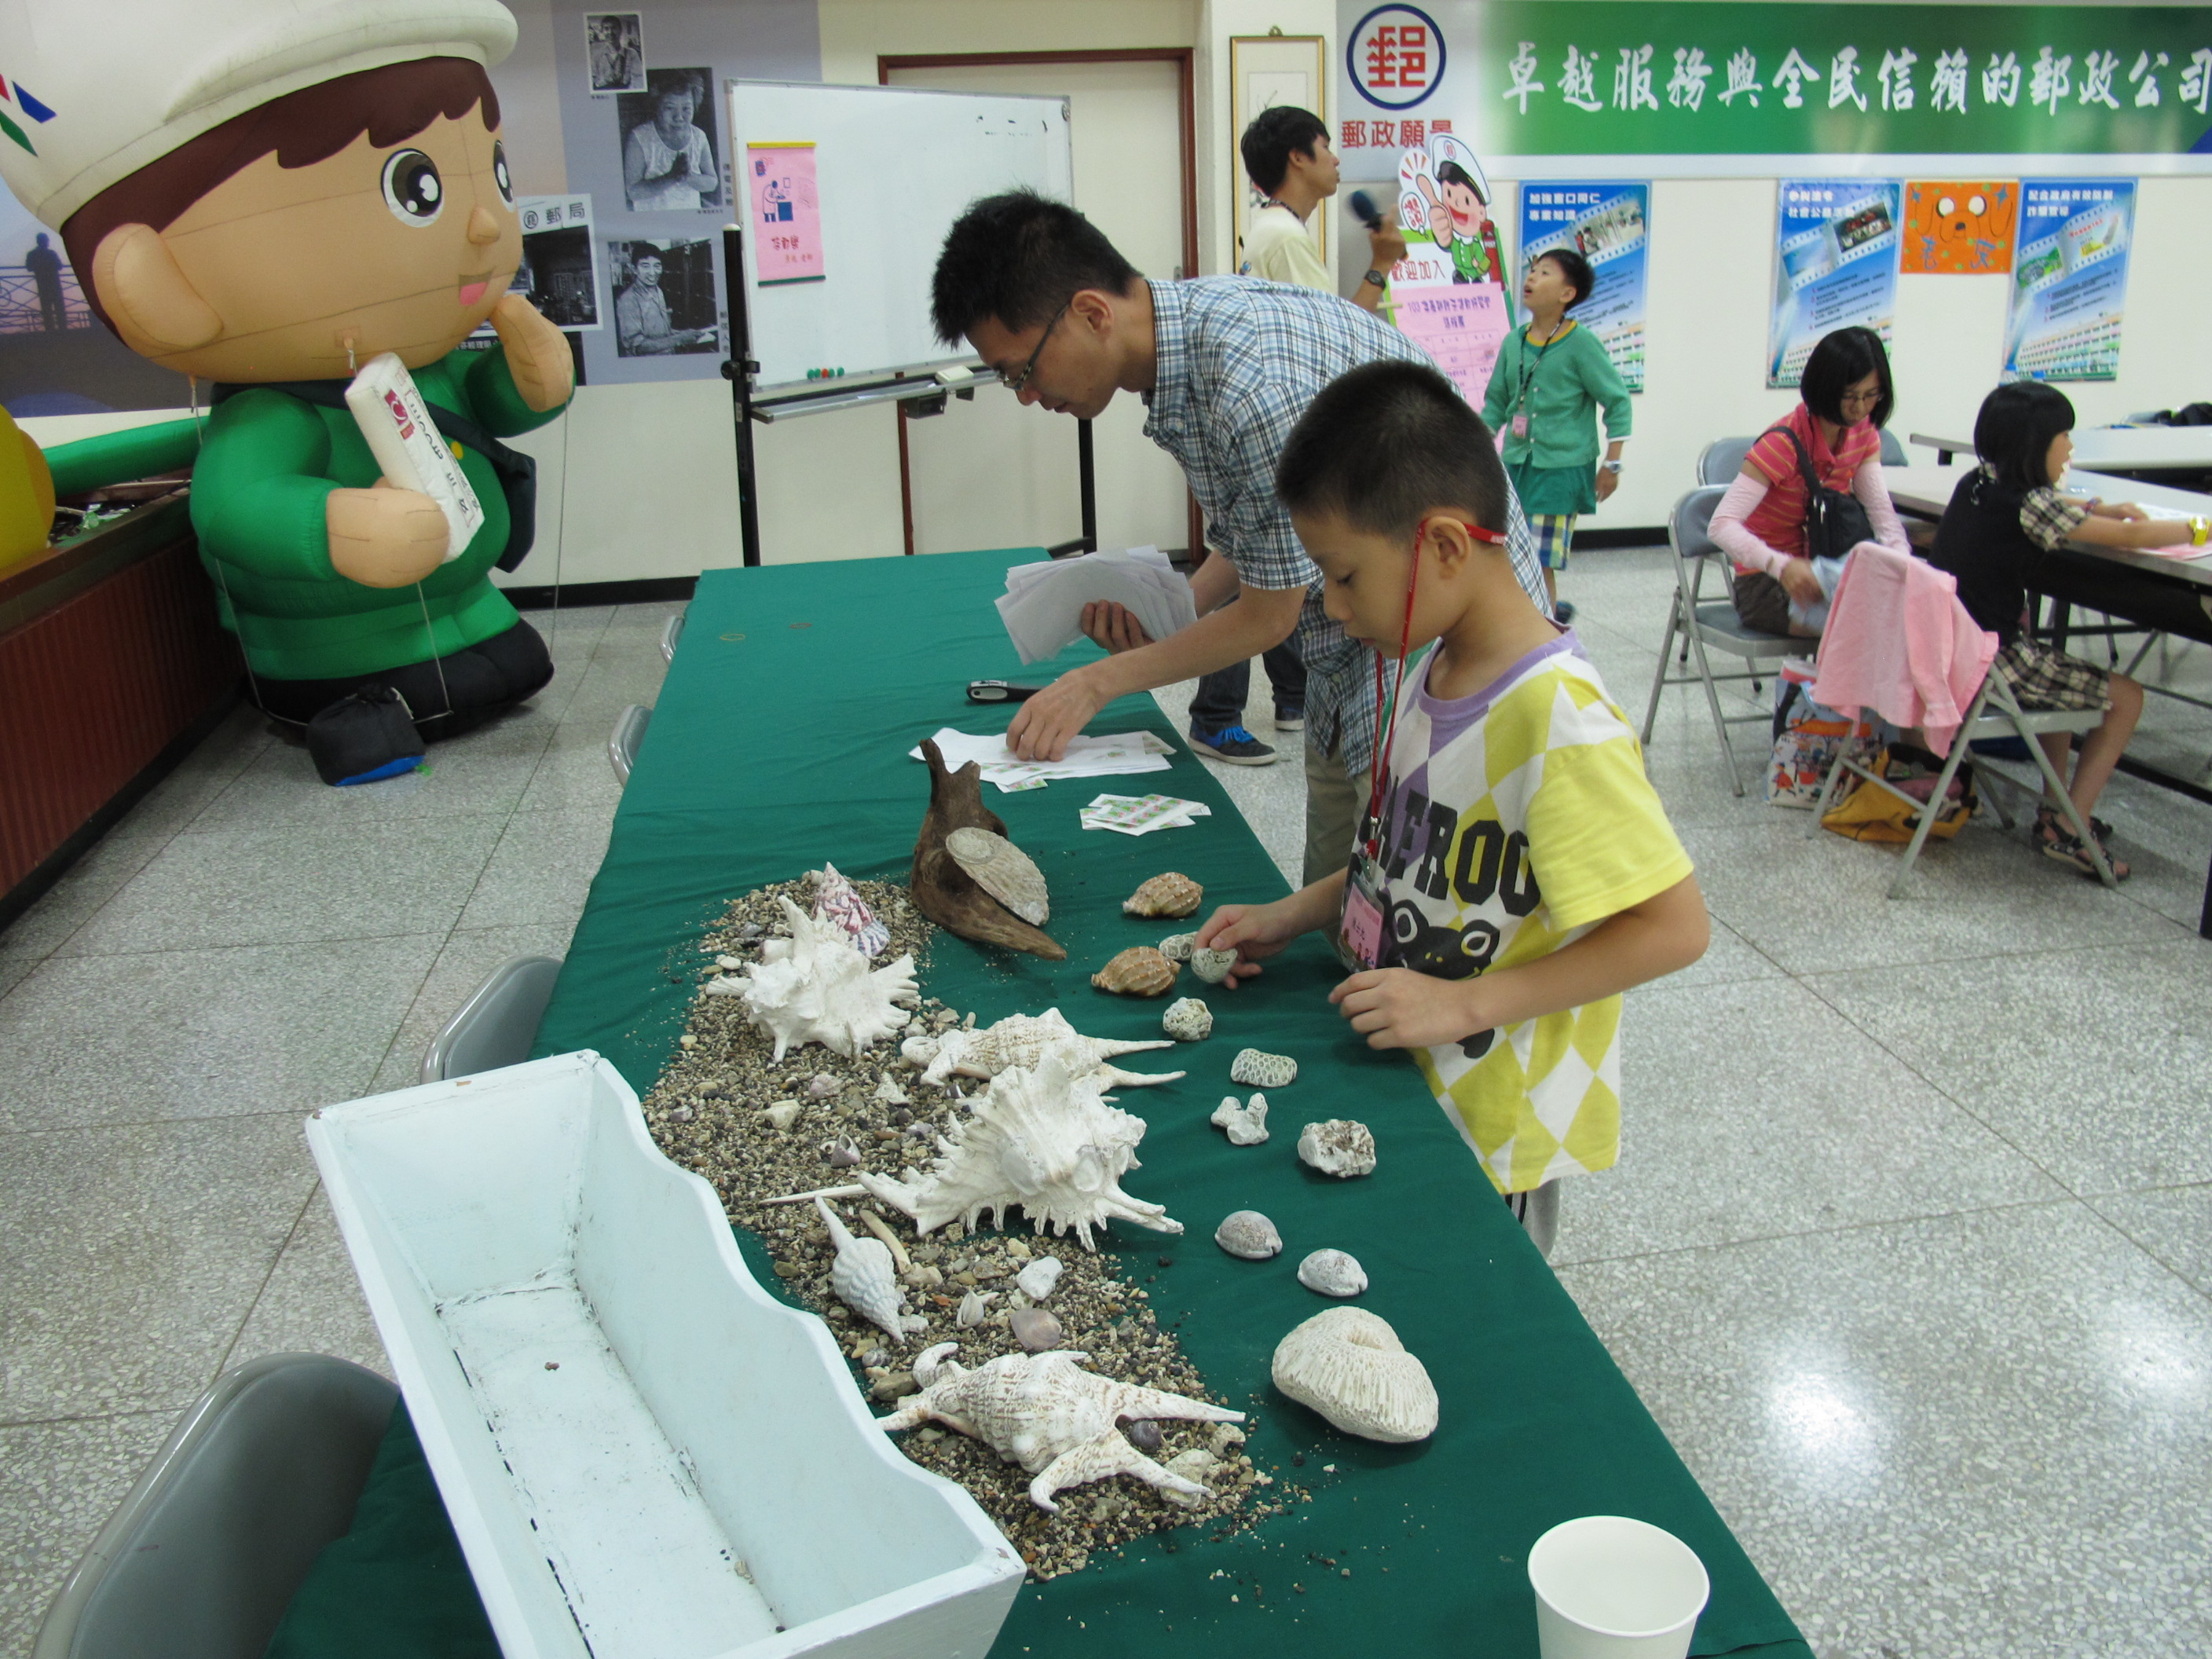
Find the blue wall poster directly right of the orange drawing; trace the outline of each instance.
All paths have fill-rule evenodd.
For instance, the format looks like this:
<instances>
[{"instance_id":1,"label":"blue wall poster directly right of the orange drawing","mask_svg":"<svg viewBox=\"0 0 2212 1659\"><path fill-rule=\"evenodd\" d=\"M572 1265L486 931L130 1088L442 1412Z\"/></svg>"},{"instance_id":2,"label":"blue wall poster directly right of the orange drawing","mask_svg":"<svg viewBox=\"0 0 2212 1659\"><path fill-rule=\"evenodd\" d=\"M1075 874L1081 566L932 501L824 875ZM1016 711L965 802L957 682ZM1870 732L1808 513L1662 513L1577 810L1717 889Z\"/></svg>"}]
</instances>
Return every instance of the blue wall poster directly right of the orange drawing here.
<instances>
[{"instance_id":1,"label":"blue wall poster directly right of the orange drawing","mask_svg":"<svg viewBox=\"0 0 2212 1659\"><path fill-rule=\"evenodd\" d=\"M2135 179L2022 179L2002 380L2119 378Z\"/></svg>"}]
</instances>

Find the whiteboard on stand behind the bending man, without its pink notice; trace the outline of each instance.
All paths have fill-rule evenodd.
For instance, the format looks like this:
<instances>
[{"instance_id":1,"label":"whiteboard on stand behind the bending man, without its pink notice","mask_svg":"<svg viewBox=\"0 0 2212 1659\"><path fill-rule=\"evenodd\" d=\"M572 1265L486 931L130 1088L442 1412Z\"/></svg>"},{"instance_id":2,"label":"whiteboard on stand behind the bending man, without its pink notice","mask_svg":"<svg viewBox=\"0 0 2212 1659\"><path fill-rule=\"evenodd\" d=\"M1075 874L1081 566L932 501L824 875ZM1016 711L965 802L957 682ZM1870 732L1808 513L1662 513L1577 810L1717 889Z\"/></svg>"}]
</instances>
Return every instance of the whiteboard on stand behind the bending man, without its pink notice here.
<instances>
[{"instance_id":1,"label":"whiteboard on stand behind the bending man, without its pink notice","mask_svg":"<svg viewBox=\"0 0 2212 1659\"><path fill-rule=\"evenodd\" d=\"M730 80L726 95L757 392L805 385L807 369L865 380L973 361L929 325L945 232L1000 190L1073 199L1066 100L768 80ZM821 281L761 283L748 144L814 144Z\"/></svg>"}]
</instances>

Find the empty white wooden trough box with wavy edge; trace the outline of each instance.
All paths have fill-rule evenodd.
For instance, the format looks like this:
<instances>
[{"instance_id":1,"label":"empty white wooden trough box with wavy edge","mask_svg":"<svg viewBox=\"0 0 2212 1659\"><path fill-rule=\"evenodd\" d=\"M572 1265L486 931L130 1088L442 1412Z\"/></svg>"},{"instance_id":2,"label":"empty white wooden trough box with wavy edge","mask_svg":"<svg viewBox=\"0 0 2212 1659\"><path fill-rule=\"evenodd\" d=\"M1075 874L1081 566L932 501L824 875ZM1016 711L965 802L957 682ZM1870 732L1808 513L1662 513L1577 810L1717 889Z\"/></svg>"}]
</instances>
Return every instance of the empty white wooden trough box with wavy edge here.
<instances>
[{"instance_id":1,"label":"empty white wooden trough box with wavy edge","mask_svg":"<svg viewBox=\"0 0 2212 1659\"><path fill-rule=\"evenodd\" d=\"M599 1055L307 1141L507 1659L991 1648L1020 1555L874 1427Z\"/></svg>"}]
</instances>

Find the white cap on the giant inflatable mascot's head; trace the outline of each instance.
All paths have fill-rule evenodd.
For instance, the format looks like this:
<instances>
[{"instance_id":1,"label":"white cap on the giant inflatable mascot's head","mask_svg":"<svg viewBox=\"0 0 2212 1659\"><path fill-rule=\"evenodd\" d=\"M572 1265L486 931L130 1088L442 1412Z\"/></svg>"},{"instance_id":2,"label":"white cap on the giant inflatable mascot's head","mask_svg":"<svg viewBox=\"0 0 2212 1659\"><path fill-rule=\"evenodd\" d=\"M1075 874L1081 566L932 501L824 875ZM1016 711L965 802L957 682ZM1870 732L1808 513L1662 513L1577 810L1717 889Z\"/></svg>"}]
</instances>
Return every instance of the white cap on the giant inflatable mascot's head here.
<instances>
[{"instance_id":1,"label":"white cap on the giant inflatable mascot's head","mask_svg":"<svg viewBox=\"0 0 2212 1659\"><path fill-rule=\"evenodd\" d=\"M0 0L0 179L55 230L270 100L416 58L491 66L500 0Z\"/></svg>"}]
</instances>

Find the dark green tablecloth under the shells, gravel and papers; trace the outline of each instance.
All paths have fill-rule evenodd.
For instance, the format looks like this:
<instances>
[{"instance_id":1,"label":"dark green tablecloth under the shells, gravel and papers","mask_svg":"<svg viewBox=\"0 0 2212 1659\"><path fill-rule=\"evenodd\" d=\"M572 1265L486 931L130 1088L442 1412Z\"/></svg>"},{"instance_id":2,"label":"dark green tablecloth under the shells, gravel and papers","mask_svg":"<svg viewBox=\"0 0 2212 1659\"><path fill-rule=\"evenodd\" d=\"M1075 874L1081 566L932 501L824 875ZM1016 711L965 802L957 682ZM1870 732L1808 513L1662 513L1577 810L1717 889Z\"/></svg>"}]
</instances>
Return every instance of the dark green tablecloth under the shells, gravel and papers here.
<instances>
[{"instance_id":1,"label":"dark green tablecloth under the shells, gravel and papers","mask_svg":"<svg viewBox=\"0 0 2212 1659\"><path fill-rule=\"evenodd\" d=\"M969 706L964 686L1022 672L991 599L1006 564L1024 557L1035 553L701 580L540 1053L597 1048L644 1093L675 1051L697 984L699 927L728 898L825 858L849 876L905 878L929 792L907 750L940 726L1004 723L1002 710ZM1177 739L1168 772L984 790L1046 872L1048 931L1068 960L942 936L922 973L929 995L973 1009L978 1022L1057 1004L1091 1035L1157 1035L1161 1002L1110 998L1088 982L1113 951L1170 931L1121 916L1119 900L1161 869L1201 880L1208 905L1283 891L1239 812L1148 697L1093 723L1135 728ZM1179 794L1210 803L1214 816L1141 838L1086 834L1077 807L1102 790ZM1217 1015L1208 1042L1130 1062L1190 1068L1179 1084L1121 1095L1150 1124L1128 1190L1166 1203L1188 1232L1128 1228L1106 1245L1150 1285L1161 1321L1181 1321L1208 1383L1256 1413L1254 1462L1310 1489L1312 1502L1223 1542L1181 1528L1031 1584L993 1652L1057 1659L1267 1644L1285 1657L1340 1659L1387 1641L1409 1655L1535 1655L1528 1546L1555 1522L1604 1513L1666 1526L1705 1562L1712 1604L1694 1652L1809 1659L1411 1062L1347 1035L1325 1000L1336 978L1321 940L1307 940L1254 984L1208 995ZM1294 1055L1298 1082L1270 1095L1274 1139L1232 1148L1208 1115L1230 1093L1230 1057L1248 1044ZM1321 1117L1374 1128L1371 1177L1340 1183L1296 1159L1298 1126ZM1214 1248L1214 1223L1241 1208L1276 1221L1283 1256L1248 1263ZM1360 1305L1387 1318L1436 1378L1442 1425L1425 1444L1338 1436L1272 1391L1274 1343L1327 1305L1294 1279L1298 1259L1323 1245L1360 1259L1371 1279Z\"/></svg>"}]
</instances>

